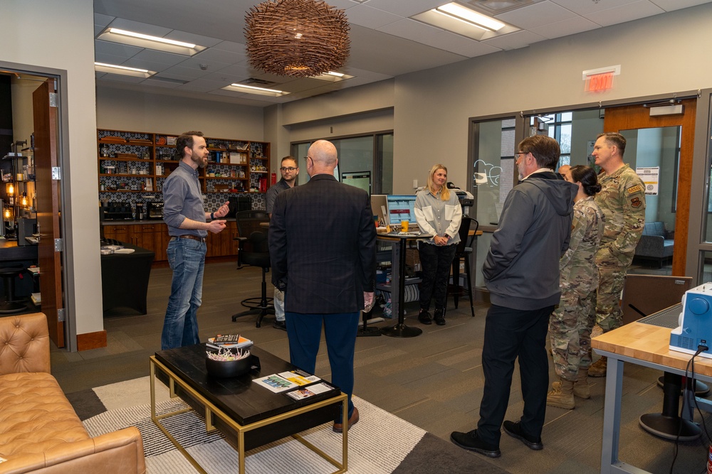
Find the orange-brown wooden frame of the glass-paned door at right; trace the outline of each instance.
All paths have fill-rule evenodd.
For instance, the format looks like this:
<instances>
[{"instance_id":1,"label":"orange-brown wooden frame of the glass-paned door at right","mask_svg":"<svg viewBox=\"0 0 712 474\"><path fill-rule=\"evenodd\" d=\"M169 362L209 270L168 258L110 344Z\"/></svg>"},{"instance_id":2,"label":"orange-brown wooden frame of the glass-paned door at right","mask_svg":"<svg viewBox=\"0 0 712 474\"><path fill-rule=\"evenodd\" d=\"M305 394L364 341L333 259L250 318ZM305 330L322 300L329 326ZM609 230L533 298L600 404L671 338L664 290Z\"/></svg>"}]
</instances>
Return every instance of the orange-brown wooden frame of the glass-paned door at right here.
<instances>
[{"instance_id":1,"label":"orange-brown wooden frame of the glass-paned door at right","mask_svg":"<svg viewBox=\"0 0 712 474\"><path fill-rule=\"evenodd\" d=\"M684 114L650 117L650 109L642 105L611 107L606 109L604 131L652 129L680 126L680 160L677 181L675 244L672 257L672 274L685 275L687 235L690 217L690 189L692 185L692 153L695 140L696 99L681 101ZM625 159L624 159L625 161Z\"/></svg>"}]
</instances>

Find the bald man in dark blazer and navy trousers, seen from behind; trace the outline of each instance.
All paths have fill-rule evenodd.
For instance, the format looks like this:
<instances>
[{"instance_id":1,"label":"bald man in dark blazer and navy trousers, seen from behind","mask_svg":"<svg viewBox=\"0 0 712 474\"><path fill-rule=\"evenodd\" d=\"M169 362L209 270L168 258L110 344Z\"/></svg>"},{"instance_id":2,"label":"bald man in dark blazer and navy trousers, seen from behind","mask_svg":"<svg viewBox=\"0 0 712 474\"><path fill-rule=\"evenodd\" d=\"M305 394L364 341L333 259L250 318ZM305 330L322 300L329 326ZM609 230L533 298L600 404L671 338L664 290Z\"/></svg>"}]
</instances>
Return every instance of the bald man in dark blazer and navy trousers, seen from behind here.
<instances>
[{"instance_id":1,"label":"bald man in dark blazer and navy trousers, seen from behind","mask_svg":"<svg viewBox=\"0 0 712 474\"><path fill-rule=\"evenodd\" d=\"M306 158L310 181L277 195L269 228L272 283L285 291L290 361L315 371L322 326L332 382L351 401L360 310L373 303L376 227L368 193L334 178L336 147L315 141ZM341 417L334 431L343 430Z\"/></svg>"}]
</instances>

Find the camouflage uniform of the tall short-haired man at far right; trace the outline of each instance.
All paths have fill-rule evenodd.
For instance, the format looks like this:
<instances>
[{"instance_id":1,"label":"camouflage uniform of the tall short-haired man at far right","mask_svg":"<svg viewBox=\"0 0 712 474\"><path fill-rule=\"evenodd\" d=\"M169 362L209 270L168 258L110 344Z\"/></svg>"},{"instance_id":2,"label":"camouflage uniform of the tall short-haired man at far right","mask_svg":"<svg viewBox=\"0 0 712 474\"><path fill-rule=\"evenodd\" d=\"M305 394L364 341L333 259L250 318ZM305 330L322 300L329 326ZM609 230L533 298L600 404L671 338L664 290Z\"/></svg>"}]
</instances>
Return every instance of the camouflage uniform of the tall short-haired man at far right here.
<instances>
[{"instance_id":1,"label":"camouflage uniform of the tall short-haired man at far right","mask_svg":"<svg viewBox=\"0 0 712 474\"><path fill-rule=\"evenodd\" d=\"M645 185L628 165L610 176L600 173L598 182L602 190L595 201L606 217L606 229L596 254L596 323L607 333L622 323L620 295L645 225Z\"/></svg>"}]
</instances>

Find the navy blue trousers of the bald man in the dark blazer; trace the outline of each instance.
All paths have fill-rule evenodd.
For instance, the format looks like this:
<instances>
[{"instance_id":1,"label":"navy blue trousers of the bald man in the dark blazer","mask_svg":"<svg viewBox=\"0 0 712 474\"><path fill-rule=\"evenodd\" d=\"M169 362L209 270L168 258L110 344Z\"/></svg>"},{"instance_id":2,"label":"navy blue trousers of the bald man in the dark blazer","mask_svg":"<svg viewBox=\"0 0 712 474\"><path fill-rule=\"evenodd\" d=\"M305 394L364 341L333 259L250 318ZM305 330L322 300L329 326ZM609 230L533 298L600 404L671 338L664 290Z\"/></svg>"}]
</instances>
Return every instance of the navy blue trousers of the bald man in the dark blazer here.
<instances>
[{"instance_id":1,"label":"navy blue trousers of the bald man in the dark blazer","mask_svg":"<svg viewBox=\"0 0 712 474\"><path fill-rule=\"evenodd\" d=\"M305 372L313 374L319 352L321 328L331 365L331 382L349 397L349 418L354 411L354 352L360 313L305 314L286 311L289 359ZM339 411L341 413L341 411ZM341 423L341 416L336 420Z\"/></svg>"}]
</instances>

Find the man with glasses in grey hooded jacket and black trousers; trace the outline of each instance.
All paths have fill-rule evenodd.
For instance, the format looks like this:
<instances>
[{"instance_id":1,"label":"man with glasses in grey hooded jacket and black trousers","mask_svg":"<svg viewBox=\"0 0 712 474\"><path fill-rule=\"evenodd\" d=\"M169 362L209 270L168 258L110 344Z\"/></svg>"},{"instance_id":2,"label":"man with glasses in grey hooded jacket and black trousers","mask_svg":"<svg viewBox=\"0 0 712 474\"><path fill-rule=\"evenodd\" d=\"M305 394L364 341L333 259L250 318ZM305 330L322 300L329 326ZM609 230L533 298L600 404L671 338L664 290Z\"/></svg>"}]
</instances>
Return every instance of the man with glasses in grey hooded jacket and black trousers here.
<instances>
[{"instance_id":1,"label":"man with glasses in grey hooded jacket and black trousers","mask_svg":"<svg viewBox=\"0 0 712 474\"><path fill-rule=\"evenodd\" d=\"M482 266L491 306L485 321L482 368L485 385L477 429L454 431L461 448L491 458L501 455L501 426L519 358L524 411L504 421L504 431L531 449L543 448L549 367L546 333L559 303L559 259L568 248L576 186L554 173L559 144L530 136L515 153L519 176L504 203L498 229Z\"/></svg>"}]
</instances>

